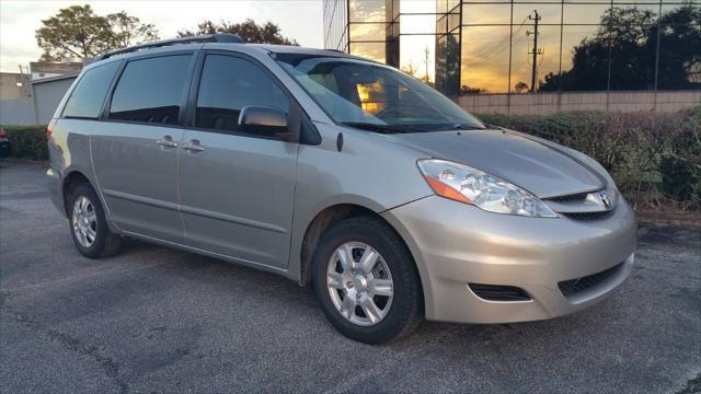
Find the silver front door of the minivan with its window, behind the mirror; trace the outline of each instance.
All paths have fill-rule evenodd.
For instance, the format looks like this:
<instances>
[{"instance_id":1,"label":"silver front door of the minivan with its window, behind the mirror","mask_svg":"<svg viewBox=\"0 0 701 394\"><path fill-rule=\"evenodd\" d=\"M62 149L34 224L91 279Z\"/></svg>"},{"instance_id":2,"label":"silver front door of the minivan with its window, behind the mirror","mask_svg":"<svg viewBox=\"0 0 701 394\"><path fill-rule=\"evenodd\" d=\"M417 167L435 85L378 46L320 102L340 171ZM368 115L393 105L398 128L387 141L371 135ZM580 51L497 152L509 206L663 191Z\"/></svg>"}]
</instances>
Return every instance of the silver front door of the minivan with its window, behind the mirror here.
<instances>
[{"instance_id":1,"label":"silver front door of the minivan with its window, behind the mirror","mask_svg":"<svg viewBox=\"0 0 701 394\"><path fill-rule=\"evenodd\" d=\"M194 129L181 140L180 196L186 243L250 264L287 266L297 149L239 129L242 107L288 113L290 101L257 63L207 54L196 93Z\"/></svg>"}]
</instances>

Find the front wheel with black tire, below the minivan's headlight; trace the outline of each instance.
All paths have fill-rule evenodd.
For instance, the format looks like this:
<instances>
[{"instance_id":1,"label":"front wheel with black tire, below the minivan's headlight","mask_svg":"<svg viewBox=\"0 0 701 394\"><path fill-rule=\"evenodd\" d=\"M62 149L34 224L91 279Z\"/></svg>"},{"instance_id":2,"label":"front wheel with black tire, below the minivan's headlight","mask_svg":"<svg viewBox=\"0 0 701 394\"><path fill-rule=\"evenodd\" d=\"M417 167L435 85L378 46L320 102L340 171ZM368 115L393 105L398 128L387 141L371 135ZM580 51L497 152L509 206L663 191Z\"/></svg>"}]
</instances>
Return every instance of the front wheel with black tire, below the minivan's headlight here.
<instances>
[{"instance_id":1,"label":"front wheel with black tire, below the minivan's headlight","mask_svg":"<svg viewBox=\"0 0 701 394\"><path fill-rule=\"evenodd\" d=\"M368 251L379 254L370 274L360 268ZM353 255L356 269L350 270L350 277L341 255ZM332 225L314 252L312 278L326 318L350 339L384 344L409 334L422 322L423 291L414 259L394 230L377 218L350 218ZM390 293L388 280L392 283L391 296L378 296ZM375 309L369 305L370 299Z\"/></svg>"}]
</instances>

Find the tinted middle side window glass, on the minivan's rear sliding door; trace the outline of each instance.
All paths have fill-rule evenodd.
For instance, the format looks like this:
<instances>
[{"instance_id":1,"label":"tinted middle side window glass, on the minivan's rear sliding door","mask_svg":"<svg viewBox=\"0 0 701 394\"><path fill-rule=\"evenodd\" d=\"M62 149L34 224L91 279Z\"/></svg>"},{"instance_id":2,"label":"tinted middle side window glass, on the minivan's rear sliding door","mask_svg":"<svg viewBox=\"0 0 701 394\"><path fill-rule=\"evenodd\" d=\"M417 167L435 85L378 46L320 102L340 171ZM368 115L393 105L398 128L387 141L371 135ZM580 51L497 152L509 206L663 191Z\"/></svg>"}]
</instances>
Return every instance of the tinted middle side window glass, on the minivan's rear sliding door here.
<instances>
[{"instance_id":1,"label":"tinted middle side window glass, on the minivan's rear sliding door","mask_svg":"<svg viewBox=\"0 0 701 394\"><path fill-rule=\"evenodd\" d=\"M110 119L177 124L191 55L127 63L112 95Z\"/></svg>"}]
</instances>

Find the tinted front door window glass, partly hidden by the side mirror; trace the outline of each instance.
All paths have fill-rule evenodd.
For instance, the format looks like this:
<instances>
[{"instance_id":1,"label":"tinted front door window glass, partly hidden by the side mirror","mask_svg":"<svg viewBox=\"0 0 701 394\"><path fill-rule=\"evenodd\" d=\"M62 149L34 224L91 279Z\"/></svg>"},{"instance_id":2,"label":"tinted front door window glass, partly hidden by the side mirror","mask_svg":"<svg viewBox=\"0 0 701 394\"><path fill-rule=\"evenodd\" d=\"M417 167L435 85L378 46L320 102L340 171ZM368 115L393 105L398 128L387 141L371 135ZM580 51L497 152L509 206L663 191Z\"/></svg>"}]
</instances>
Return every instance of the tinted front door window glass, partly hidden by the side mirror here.
<instances>
[{"instance_id":1,"label":"tinted front door window glass, partly hidden by the side mirror","mask_svg":"<svg viewBox=\"0 0 701 394\"><path fill-rule=\"evenodd\" d=\"M289 100L254 63L232 56L207 55L199 80L195 126L237 131L241 108L248 105L276 107L287 113Z\"/></svg>"}]
</instances>

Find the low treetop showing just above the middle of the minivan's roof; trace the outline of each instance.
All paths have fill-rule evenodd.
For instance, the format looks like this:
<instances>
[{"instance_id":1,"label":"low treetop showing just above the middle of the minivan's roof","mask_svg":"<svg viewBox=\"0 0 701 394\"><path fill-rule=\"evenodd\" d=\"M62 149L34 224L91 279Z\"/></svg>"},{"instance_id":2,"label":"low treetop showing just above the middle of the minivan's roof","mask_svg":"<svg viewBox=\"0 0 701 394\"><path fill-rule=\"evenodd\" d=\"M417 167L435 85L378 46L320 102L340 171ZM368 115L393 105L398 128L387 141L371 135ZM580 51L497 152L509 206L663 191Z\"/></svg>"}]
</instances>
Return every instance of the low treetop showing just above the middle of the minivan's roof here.
<instances>
[{"instance_id":1,"label":"low treetop showing just above the middle of the minivan's roof","mask_svg":"<svg viewBox=\"0 0 701 394\"><path fill-rule=\"evenodd\" d=\"M258 25L252 19L246 19L242 23L231 23L221 21L219 24L205 20L197 25L194 31L184 30L177 32L179 37L186 37L200 34L231 33L237 34L246 43L256 44L279 44L299 46L297 40L284 37L280 28L273 22Z\"/></svg>"}]
</instances>

